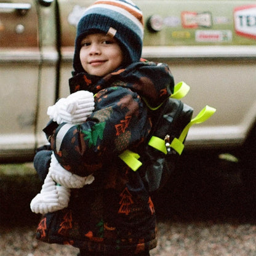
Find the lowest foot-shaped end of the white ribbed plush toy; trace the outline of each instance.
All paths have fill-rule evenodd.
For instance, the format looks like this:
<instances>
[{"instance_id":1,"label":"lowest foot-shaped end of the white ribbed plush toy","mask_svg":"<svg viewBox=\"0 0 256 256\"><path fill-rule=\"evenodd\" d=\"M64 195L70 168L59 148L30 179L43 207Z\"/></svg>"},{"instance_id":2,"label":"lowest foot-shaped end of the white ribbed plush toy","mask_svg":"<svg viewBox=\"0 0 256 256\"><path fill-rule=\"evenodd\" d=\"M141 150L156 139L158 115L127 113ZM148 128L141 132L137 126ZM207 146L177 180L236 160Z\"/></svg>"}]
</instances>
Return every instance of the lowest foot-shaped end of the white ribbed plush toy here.
<instances>
[{"instance_id":1,"label":"lowest foot-shaped end of the white ribbed plush toy","mask_svg":"<svg viewBox=\"0 0 256 256\"><path fill-rule=\"evenodd\" d=\"M36 214L47 214L68 207L69 201L70 188L56 185L48 173L42 190L33 198L30 208Z\"/></svg>"}]
</instances>

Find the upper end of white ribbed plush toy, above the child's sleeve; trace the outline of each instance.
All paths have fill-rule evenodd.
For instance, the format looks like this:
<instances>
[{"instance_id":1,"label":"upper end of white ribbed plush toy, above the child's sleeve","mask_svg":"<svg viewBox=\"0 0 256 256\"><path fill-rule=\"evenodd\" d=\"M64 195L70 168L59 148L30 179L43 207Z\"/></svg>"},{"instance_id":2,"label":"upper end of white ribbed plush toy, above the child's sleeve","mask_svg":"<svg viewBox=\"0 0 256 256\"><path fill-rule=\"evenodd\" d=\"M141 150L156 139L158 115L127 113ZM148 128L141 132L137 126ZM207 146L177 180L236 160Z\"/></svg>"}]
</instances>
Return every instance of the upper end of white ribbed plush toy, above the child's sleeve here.
<instances>
[{"instance_id":1,"label":"upper end of white ribbed plush toy, above the child's sleeve","mask_svg":"<svg viewBox=\"0 0 256 256\"><path fill-rule=\"evenodd\" d=\"M47 114L58 124L62 122L79 124L85 122L92 111L94 111L94 94L87 90L79 90L67 98L61 98L55 105L49 106Z\"/></svg>"}]
</instances>

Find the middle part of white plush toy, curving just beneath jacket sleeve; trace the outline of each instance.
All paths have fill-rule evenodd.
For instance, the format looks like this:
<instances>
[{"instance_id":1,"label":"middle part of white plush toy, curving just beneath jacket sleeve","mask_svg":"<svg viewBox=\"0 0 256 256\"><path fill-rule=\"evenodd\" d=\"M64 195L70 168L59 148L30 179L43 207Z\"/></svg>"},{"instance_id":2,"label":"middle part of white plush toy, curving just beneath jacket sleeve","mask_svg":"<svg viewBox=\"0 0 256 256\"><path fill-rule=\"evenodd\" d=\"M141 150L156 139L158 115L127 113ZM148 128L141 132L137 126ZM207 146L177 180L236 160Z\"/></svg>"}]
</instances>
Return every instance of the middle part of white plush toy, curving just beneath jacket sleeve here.
<instances>
[{"instance_id":1,"label":"middle part of white plush toy, curving just beneath jacket sleeve","mask_svg":"<svg viewBox=\"0 0 256 256\"><path fill-rule=\"evenodd\" d=\"M51 156L49 173L55 182L66 188L82 188L84 185L88 185L94 181L94 176L92 174L87 177L81 177L68 172L68 170L64 169L59 164L54 153L52 153Z\"/></svg>"}]
</instances>

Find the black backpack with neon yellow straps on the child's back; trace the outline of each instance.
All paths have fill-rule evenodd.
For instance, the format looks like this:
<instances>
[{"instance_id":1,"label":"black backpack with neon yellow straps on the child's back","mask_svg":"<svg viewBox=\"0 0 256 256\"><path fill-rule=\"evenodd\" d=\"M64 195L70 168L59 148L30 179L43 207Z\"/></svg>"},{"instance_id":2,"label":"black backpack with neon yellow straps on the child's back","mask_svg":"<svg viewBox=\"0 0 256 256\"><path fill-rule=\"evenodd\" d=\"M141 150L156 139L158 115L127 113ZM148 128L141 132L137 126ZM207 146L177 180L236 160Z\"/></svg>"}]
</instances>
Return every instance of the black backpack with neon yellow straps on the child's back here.
<instances>
[{"instance_id":1,"label":"black backpack with neon yellow straps on the child's back","mask_svg":"<svg viewBox=\"0 0 256 256\"><path fill-rule=\"evenodd\" d=\"M150 193L160 190L174 171L190 127L206 121L216 111L206 105L191 119L193 108L180 100L189 90L185 82L179 82L174 87L174 94L157 108L151 108L145 102L152 120L148 140L140 145L136 153L126 150L119 154L127 166L138 170Z\"/></svg>"}]
</instances>

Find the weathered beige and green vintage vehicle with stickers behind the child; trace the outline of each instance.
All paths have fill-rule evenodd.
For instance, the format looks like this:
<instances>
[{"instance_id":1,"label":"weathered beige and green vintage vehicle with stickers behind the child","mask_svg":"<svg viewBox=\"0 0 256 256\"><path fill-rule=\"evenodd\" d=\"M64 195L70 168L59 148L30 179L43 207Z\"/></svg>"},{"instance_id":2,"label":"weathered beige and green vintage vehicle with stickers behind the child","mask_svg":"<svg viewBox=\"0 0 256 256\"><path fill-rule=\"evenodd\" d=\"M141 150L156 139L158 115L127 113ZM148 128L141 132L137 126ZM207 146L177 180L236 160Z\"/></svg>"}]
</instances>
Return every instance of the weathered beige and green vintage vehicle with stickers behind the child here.
<instances>
[{"instance_id":1,"label":"weathered beige and green vintage vehicle with stickers behind the child","mask_svg":"<svg viewBox=\"0 0 256 256\"><path fill-rule=\"evenodd\" d=\"M94 1L0 0L0 159L32 158L46 143L47 106L69 94L76 25ZM256 3L134 0L145 22L143 57L166 62L198 113L186 148L242 145L256 118ZM255 150L255 149L254 149Z\"/></svg>"}]
</instances>

